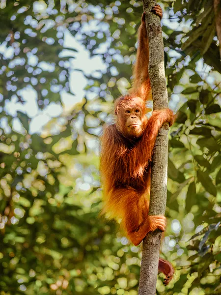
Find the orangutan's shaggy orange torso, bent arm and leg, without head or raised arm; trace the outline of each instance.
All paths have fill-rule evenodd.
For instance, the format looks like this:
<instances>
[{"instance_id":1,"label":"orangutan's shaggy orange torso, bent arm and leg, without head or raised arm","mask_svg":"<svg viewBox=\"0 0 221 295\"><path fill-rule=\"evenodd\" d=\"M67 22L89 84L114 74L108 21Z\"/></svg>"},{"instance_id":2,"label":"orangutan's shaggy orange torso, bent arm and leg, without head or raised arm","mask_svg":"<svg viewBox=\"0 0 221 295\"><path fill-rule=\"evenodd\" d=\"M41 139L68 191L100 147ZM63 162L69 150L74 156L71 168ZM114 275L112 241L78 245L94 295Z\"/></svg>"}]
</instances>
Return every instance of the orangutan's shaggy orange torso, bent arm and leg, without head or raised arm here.
<instances>
[{"instance_id":1,"label":"orangutan's shaggy orange torso, bent arm and leg, without head or raised arm","mask_svg":"<svg viewBox=\"0 0 221 295\"><path fill-rule=\"evenodd\" d=\"M146 117L145 117L146 118ZM111 124L101 139L100 170L104 187L104 208L111 218L121 220L132 242L138 245L149 231L158 228L159 220L149 224L150 162L161 126L173 114L169 109L153 112L144 122L142 136L133 141L125 138ZM157 218L157 217L156 217ZM164 217L161 217L164 220Z\"/></svg>"}]
</instances>

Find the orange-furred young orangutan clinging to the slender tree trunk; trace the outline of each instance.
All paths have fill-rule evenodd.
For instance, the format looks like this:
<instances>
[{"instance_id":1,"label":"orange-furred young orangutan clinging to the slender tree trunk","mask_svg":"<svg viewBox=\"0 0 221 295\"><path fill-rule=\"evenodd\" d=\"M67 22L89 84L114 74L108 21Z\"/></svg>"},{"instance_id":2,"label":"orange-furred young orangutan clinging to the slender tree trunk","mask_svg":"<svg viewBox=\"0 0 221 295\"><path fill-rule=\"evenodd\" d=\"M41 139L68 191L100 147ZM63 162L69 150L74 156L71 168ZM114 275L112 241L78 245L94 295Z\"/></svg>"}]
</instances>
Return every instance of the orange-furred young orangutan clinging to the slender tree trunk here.
<instances>
[{"instance_id":1,"label":"orange-furred young orangutan clinging to the slender tree trunk","mask_svg":"<svg viewBox=\"0 0 221 295\"><path fill-rule=\"evenodd\" d=\"M135 245L148 232L164 231L166 227L165 216L148 215L147 195L150 193L151 160L157 134L165 122L171 125L174 118L169 109L153 112L149 119L145 116L145 102L151 97L148 62L148 39L142 17L133 87L129 94L114 103L116 122L104 128L100 162L104 188L102 212L121 222ZM172 266L160 259L159 270L166 274L169 282Z\"/></svg>"}]
</instances>

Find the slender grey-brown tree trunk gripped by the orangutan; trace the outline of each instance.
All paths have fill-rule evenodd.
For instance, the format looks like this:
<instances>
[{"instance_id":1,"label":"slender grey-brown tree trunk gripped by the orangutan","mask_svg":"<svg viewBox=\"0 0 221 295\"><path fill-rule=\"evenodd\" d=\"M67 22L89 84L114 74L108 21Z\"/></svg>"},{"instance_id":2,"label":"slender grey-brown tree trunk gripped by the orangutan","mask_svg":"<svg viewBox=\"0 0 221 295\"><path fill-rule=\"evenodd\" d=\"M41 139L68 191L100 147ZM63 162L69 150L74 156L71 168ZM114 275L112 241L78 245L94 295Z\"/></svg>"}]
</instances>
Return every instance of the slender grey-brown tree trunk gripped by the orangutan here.
<instances>
[{"instance_id":1,"label":"slender grey-brown tree trunk gripped by the orangutan","mask_svg":"<svg viewBox=\"0 0 221 295\"><path fill-rule=\"evenodd\" d=\"M149 76L153 96L153 109L168 107L166 77L164 69L164 43L160 18L151 11L156 4L143 0L146 12L146 29L149 39ZM164 215L167 193L168 123L157 137L151 173L149 215ZM158 274L161 232L150 232L143 240L142 261L139 279L139 295L155 295Z\"/></svg>"}]
</instances>

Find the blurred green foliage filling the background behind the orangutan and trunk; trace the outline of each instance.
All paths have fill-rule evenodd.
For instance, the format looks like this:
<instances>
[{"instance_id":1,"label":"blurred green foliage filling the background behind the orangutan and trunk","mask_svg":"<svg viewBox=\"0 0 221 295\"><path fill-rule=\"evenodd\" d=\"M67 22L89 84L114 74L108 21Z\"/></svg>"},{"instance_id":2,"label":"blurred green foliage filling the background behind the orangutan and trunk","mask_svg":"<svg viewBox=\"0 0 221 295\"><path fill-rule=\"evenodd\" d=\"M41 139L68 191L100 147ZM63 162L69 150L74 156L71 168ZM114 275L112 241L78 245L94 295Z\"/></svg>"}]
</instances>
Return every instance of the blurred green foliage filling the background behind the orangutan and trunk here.
<instances>
[{"instance_id":1,"label":"blurred green foliage filling the background behind the orangutan and trunk","mask_svg":"<svg viewBox=\"0 0 221 295\"><path fill-rule=\"evenodd\" d=\"M168 226L162 256L175 278L160 295L221 294L221 63L212 0L162 1L170 128ZM0 1L0 295L137 295L141 247L98 218L97 135L130 87L142 3ZM85 97L30 132L25 91L62 105L67 30L106 71L83 73ZM73 61L73 65L74 65ZM81 69L80 69L81 70ZM70 82L72 82L70 80ZM93 96L93 98L91 98Z\"/></svg>"}]
</instances>

